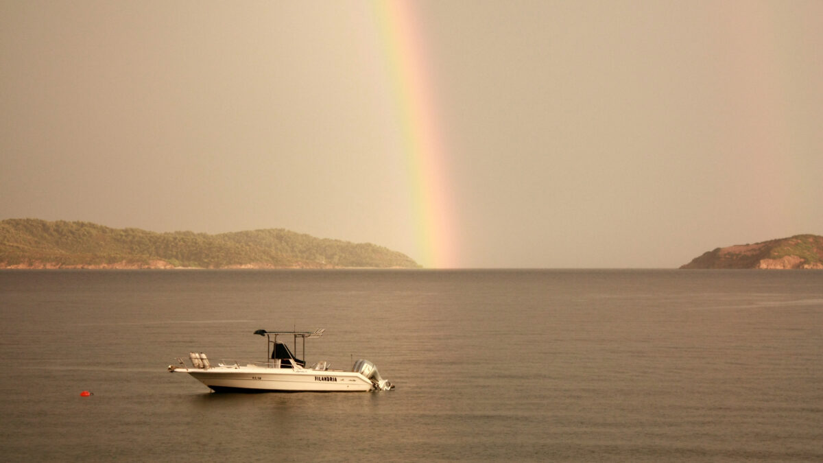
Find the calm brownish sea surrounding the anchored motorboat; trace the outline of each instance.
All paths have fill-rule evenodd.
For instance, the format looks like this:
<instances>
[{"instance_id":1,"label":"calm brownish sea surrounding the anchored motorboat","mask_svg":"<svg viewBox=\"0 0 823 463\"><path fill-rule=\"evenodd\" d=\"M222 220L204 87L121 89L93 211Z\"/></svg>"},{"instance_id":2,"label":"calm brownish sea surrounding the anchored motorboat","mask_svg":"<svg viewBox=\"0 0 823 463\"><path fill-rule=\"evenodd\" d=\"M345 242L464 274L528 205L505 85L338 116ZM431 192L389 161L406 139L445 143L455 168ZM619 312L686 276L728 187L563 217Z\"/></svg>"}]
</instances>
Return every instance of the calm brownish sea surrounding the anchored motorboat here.
<instances>
[{"instance_id":1,"label":"calm brownish sea surrounding the anchored motorboat","mask_svg":"<svg viewBox=\"0 0 823 463\"><path fill-rule=\"evenodd\" d=\"M2 461L823 461L823 271L2 270L0 314ZM396 388L167 371L319 328Z\"/></svg>"}]
</instances>

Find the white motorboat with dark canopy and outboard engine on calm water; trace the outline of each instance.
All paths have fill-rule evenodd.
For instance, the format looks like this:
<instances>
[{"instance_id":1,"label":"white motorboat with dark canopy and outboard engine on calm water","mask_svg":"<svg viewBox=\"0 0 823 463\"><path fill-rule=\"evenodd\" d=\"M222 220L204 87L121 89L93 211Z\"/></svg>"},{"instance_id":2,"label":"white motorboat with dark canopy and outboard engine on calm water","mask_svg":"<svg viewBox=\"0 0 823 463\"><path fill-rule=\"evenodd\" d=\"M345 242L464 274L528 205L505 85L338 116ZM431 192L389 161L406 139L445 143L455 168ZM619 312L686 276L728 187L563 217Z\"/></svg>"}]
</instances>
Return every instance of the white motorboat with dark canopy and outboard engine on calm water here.
<instances>
[{"instance_id":1,"label":"white motorboat with dark canopy and outboard engine on calm water","mask_svg":"<svg viewBox=\"0 0 823 463\"><path fill-rule=\"evenodd\" d=\"M380 377L377 367L368 360L358 360L351 371L332 370L329 362L317 362L309 368L305 361L295 357L286 343L278 336L293 336L295 353L297 340L302 341L305 358L305 340L319 338L325 330L312 332L257 330L254 334L267 337L266 362L221 361L212 365L204 353L188 354L188 366L184 358L177 358L179 365L169 365L170 372L186 372L215 392L345 392L389 391L392 383Z\"/></svg>"}]
</instances>

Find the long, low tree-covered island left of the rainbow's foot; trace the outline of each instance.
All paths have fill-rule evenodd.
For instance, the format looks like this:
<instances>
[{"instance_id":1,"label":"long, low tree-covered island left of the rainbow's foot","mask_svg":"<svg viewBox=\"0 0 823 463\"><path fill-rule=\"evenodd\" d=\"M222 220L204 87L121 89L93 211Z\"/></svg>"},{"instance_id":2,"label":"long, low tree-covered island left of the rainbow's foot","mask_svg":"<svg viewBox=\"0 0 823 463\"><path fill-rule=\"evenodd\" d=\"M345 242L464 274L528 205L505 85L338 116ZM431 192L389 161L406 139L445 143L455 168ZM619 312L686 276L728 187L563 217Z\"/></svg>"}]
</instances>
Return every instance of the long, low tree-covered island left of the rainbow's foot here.
<instances>
[{"instance_id":1,"label":"long, low tree-covered island left of the rainbow's foot","mask_svg":"<svg viewBox=\"0 0 823 463\"><path fill-rule=\"evenodd\" d=\"M109 228L90 222L0 221L0 269L419 268L371 243L284 229L209 235Z\"/></svg>"}]
</instances>

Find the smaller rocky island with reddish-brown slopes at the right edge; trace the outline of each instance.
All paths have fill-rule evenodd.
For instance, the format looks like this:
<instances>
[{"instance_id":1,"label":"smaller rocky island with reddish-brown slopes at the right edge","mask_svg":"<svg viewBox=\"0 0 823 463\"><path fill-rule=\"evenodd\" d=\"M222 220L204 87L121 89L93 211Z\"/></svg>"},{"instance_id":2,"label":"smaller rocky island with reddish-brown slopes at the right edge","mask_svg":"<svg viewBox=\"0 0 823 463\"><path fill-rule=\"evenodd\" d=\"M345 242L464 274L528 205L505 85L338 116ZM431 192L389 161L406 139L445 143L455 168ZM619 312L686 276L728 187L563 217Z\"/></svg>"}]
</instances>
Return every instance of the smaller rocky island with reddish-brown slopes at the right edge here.
<instances>
[{"instance_id":1,"label":"smaller rocky island with reddish-brown slopes at the right edge","mask_svg":"<svg viewBox=\"0 0 823 463\"><path fill-rule=\"evenodd\" d=\"M823 269L823 236L796 235L717 248L681 269Z\"/></svg>"}]
</instances>

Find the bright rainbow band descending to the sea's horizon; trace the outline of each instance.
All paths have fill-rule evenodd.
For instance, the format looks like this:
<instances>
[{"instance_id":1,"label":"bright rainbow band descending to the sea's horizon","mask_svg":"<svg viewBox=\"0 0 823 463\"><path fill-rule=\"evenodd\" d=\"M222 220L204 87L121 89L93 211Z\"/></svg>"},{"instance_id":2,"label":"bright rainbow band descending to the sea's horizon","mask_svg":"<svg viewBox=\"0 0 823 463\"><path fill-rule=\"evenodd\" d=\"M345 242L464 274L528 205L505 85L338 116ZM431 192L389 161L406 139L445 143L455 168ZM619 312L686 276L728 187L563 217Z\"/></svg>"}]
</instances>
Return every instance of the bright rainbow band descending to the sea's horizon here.
<instances>
[{"instance_id":1,"label":"bright rainbow band descending to the sea's horizon","mask_svg":"<svg viewBox=\"0 0 823 463\"><path fill-rule=\"evenodd\" d=\"M455 216L447 153L425 35L412 1L372 2L402 138L417 260L427 268L457 266Z\"/></svg>"}]
</instances>

